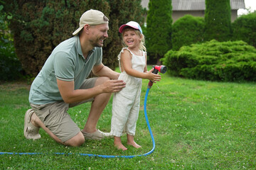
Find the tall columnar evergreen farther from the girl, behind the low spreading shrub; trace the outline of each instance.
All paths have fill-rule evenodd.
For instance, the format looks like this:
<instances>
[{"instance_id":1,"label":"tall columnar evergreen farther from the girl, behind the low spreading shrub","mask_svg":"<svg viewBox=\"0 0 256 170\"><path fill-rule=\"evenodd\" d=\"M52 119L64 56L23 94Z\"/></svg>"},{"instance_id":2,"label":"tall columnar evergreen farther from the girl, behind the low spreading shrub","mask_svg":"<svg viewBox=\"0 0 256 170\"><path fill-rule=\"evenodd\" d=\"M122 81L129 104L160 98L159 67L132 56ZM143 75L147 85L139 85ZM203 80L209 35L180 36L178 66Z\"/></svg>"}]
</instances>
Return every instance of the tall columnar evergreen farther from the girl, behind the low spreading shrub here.
<instances>
[{"instance_id":1,"label":"tall columnar evergreen farther from the girl, behind the low spreading shrub","mask_svg":"<svg viewBox=\"0 0 256 170\"><path fill-rule=\"evenodd\" d=\"M205 40L226 41L231 38L230 0L206 0Z\"/></svg>"}]
</instances>

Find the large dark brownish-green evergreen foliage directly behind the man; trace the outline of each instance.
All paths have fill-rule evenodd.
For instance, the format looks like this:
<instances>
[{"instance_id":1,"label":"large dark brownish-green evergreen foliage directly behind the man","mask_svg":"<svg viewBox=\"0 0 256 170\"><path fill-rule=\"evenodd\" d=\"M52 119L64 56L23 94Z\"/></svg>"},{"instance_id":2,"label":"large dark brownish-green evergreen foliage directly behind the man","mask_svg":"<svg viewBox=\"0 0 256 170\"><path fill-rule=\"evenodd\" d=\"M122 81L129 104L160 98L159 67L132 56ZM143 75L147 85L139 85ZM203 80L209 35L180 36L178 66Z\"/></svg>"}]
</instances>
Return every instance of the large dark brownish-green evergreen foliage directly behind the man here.
<instances>
[{"instance_id":1,"label":"large dark brownish-green evergreen foliage directly behind the man","mask_svg":"<svg viewBox=\"0 0 256 170\"><path fill-rule=\"evenodd\" d=\"M119 26L131 20L143 21L141 1L136 0L5 1L6 11L13 13L10 28L14 33L16 54L23 69L32 76L38 74L54 47L73 36L80 16L90 8L102 11L110 19L103 64L112 69L117 67L117 55L122 47Z\"/></svg>"}]
</instances>

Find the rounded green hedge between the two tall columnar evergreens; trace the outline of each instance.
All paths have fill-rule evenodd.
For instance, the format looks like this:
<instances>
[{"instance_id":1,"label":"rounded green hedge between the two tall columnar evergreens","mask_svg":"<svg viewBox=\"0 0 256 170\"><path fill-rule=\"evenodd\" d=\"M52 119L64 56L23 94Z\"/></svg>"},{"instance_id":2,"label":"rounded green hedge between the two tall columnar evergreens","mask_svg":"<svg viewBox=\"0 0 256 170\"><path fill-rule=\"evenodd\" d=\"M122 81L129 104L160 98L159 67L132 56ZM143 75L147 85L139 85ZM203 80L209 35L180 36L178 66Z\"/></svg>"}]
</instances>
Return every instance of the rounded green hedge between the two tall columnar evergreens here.
<instances>
[{"instance_id":1,"label":"rounded green hedge between the two tall columnar evergreens","mask_svg":"<svg viewBox=\"0 0 256 170\"><path fill-rule=\"evenodd\" d=\"M185 15L173 25L172 50L203 41L204 18Z\"/></svg>"}]
</instances>

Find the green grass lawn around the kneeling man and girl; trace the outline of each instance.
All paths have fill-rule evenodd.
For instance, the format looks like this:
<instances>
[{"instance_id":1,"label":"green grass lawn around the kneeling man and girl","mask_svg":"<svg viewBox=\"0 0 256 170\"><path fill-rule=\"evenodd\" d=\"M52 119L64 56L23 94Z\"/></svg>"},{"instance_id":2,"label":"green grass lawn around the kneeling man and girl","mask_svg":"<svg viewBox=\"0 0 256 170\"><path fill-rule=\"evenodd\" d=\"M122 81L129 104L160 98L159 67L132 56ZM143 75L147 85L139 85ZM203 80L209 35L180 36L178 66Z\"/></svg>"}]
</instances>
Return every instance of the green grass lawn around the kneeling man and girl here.
<instances>
[{"instance_id":1,"label":"green grass lawn around the kneeling man and girl","mask_svg":"<svg viewBox=\"0 0 256 170\"><path fill-rule=\"evenodd\" d=\"M144 118L146 80L135 140L141 149L115 149L113 139L86 141L82 147L57 144L40 130L40 140L23 137L23 116L29 108L29 86L0 84L0 152L39 152L35 155L1 154L1 169L256 169L256 84L195 81L169 77L151 88L147 114L156 148L146 157L99 158L86 154L137 155L152 149ZM90 103L68 113L83 128ZM112 100L97 128L110 131ZM122 138L123 143L126 137ZM55 152L66 153L57 155Z\"/></svg>"}]
</instances>

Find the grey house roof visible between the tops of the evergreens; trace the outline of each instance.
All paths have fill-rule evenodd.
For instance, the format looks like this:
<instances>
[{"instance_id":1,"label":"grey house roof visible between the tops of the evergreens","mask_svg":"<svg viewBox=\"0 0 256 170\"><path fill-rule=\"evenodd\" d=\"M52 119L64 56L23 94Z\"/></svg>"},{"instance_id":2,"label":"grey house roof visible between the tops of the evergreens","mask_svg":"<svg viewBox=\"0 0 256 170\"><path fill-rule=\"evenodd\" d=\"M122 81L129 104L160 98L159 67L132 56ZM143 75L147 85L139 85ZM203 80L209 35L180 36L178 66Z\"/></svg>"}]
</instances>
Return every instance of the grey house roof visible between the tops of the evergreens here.
<instances>
[{"instance_id":1,"label":"grey house roof visible between the tops of the evergreens","mask_svg":"<svg viewBox=\"0 0 256 170\"><path fill-rule=\"evenodd\" d=\"M149 9L149 0L142 0L142 7ZM206 10L205 0L172 0L173 11L198 11ZM245 0L230 0L231 9L245 8Z\"/></svg>"}]
</instances>

